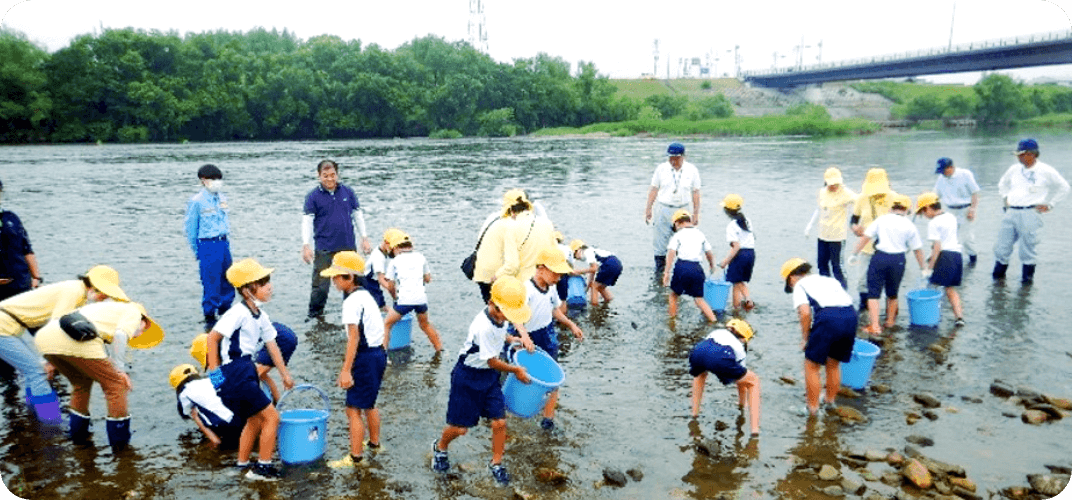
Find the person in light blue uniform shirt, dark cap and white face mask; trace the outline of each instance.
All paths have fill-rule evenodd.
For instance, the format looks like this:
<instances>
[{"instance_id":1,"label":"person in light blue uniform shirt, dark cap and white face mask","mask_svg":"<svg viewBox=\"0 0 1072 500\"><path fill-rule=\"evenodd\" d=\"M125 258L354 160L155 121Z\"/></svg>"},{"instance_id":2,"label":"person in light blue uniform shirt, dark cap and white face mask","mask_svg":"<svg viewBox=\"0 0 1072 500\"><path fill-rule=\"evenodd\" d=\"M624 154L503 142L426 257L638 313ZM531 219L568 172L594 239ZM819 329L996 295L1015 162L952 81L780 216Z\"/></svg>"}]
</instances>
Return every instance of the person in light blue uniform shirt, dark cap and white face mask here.
<instances>
[{"instance_id":1,"label":"person in light blue uniform shirt, dark cap and white face mask","mask_svg":"<svg viewBox=\"0 0 1072 500\"><path fill-rule=\"evenodd\" d=\"M230 244L227 241L227 197L220 191L223 172L207 164L197 170L202 190L187 204L187 240L200 267L202 312L205 330L212 329L215 320L235 302L235 288L224 278L230 267Z\"/></svg>"}]
</instances>

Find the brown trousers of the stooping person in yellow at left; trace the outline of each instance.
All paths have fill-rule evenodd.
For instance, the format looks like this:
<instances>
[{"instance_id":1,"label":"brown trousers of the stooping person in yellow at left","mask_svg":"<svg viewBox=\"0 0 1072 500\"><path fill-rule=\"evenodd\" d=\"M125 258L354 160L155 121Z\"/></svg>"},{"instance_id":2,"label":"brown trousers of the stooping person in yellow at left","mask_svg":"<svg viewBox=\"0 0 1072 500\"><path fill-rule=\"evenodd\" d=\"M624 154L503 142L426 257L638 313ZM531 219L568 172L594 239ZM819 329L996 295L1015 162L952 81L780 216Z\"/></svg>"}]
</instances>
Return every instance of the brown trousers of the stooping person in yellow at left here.
<instances>
[{"instance_id":1,"label":"brown trousers of the stooping person in yellow at left","mask_svg":"<svg viewBox=\"0 0 1072 500\"><path fill-rule=\"evenodd\" d=\"M126 384L109 359L86 359L57 354L45 354L45 359L48 359L56 367L56 371L71 382L69 405L72 410L89 415L89 393L93 382L96 382L104 392L108 416L121 418L130 415L126 410Z\"/></svg>"}]
</instances>

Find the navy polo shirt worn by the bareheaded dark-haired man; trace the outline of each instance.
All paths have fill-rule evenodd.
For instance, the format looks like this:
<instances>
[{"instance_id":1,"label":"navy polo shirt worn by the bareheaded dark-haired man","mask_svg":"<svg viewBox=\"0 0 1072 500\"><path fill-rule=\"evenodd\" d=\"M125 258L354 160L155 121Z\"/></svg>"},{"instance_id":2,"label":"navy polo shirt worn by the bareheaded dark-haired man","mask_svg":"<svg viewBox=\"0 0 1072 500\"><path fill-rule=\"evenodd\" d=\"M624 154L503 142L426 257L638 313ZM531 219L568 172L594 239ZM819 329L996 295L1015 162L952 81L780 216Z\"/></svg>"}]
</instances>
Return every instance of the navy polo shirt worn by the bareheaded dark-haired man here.
<instances>
[{"instance_id":1,"label":"navy polo shirt worn by the bareheaded dark-haired man","mask_svg":"<svg viewBox=\"0 0 1072 500\"><path fill-rule=\"evenodd\" d=\"M316 251L356 250L354 210L360 207L354 191L342 183L336 187L334 192L319 185L310 191L306 195L302 212L313 216L313 242Z\"/></svg>"}]
</instances>

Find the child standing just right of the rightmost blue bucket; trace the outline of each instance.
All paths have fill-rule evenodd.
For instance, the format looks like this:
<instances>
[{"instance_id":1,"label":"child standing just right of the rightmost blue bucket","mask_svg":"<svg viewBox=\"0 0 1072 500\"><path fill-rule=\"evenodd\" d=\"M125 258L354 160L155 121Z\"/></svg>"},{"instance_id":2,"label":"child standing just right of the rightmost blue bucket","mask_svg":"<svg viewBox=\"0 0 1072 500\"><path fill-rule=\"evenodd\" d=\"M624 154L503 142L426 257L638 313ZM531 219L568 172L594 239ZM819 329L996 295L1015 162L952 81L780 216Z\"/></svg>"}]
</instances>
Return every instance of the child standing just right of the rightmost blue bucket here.
<instances>
[{"instance_id":1,"label":"child standing just right of the rightmost blue bucket","mask_svg":"<svg viewBox=\"0 0 1072 500\"><path fill-rule=\"evenodd\" d=\"M933 192L920 195L915 201L915 212L930 219L927 222L927 239L934 241L923 278L929 278L930 284L946 288L946 297L956 315L954 325L964 326L961 294L956 291L964 274L964 258L956 236L956 216L942 211L938 194Z\"/></svg>"}]
</instances>

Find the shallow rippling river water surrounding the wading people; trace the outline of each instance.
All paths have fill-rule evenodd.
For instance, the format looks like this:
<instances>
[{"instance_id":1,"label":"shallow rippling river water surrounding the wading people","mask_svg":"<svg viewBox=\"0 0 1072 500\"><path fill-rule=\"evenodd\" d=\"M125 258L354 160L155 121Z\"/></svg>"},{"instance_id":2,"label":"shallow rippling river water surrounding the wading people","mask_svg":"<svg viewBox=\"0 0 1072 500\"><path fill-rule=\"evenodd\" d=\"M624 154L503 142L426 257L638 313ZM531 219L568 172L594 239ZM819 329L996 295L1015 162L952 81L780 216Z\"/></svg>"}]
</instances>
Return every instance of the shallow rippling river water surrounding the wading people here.
<instances>
[{"instance_id":1,"label":"shallow rippling river water surrounding the wading people","mask_svg":"<svg viewBox=\"0 0 1072 500\"><path fill-rule=\"evenodd\" d=\"M360 141L142 146L26 146L0 149L3 206L30 233L48 281L74 277L94 264L117 268L122 285L146 305L167 332L157 348L135 353L130 396L132 448L114 456L94 388L93 448L75 448L61 436L40 431L20 401L16 384L0 385L0 474L25 498L504 498L483 464L490 431L474 428L451 446L460 473L429 471L429 443L443 425L455 353L480 309L477 288L458 264L476 241L485 217L502 193L521 187L548 208L567 238L615 252L625 265L615 300L575 312L585 340L565 340L561 363L567 380L560 400L559 430L545 433L536 420L508 420L506 465L511 487L526 498L805 498L825 486L800 469L830 464L850 450L903 450L905 437L930 438L929 457L963 466L982 491L1026 484L1025 474L1045 465L1070 465L1072 427L1067 422L1031 426L1002 412L1023 410L994 397L995 379L1072 397L1072 357L1067 354L1072 313L1061 306L1072 282L1069 259L1072 209L1045 216L1039 275L1022 288L1018 260L1010 283L989 279L991 252L1001 217L997 181L1015 159L1018 136L883 133L866 137L689 139L688 159L703 177L700 229L725 255L727 218L718 201L744 196L757 234L750 290L758 307L746 319L758 332L749 368L762 381L762 436L749 441L736 425L736 394L711 379L701 416L689 418L687 355L711 329L690 302L676 322L666 313L666 291L652 279L651 229L644 200L662 138L519 138L460 141ZM1072 178L1072 139L1039 136L1042 160ZM822 173L842 168L859 190L864 173L884 167L893 188L913 196L934 186L935 160L952 157L970 167L983 188L977 241L978 268L966 273L962 297L968 325L955 329L948 306L937 329L909 328L902 298L902 328L879 358L873 383L889 394L842 399L868 422L812 421L804 408L799 329L778 269L791 256L814 262L815 240L803 227L821 187ZM415 328L412 350L392 354L379 397L386 452L371 469L342 472L323 462L291 467L286 480L251 483L232 475L233 452L200 442L196 428L175 411L167 384L172 367L191 363L190 340L199 333L200 285L196 262L182 235L185 201L196 191L195 172L215 163L230 198L232 251L276 269L272 319L294 327L300 343L291 362L299 383L329 394L327 458L347 450L344 395L333 387L345 337L339 325L341 297L332 291L328 321L306 323L310 267L300 261L299 220L304 194L315 183L315 164L342 164L342 181L358 193L370 233L398 226L429 259L430 318L447 349L435 361ZM921 229L923 220L918 221ZM851 239L850 239L851 242ZM903 291L918 278L909 265ZM854 273L854 271L853 271ZM851 276L850 276L851 278ZM902 295L904 297L904 294ZM928 350L935 342L946 355ZM795 384L780 381L783 376ZM61 397L66 384L57 382ZM942 401L938 418L909 426L918 411L911 395L929 392ZM306 398L318 405L315 398ZM728 426L728 428L726 428ZM723 429L723 430L718 430ZM696 442L706 443L702 452ZM556 469L563 485L537 481L535 469ZM616 488L602 484L604 469L642 473ZM892 469L873 465L881 475ZM892 488L867 483L873 490ZM985 495L985 494L984 494Z\"/></svg>"}]
</instances>

